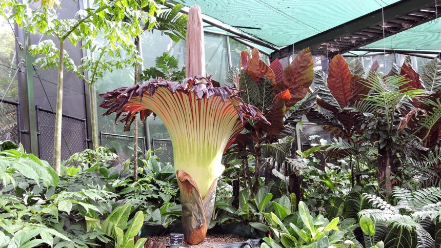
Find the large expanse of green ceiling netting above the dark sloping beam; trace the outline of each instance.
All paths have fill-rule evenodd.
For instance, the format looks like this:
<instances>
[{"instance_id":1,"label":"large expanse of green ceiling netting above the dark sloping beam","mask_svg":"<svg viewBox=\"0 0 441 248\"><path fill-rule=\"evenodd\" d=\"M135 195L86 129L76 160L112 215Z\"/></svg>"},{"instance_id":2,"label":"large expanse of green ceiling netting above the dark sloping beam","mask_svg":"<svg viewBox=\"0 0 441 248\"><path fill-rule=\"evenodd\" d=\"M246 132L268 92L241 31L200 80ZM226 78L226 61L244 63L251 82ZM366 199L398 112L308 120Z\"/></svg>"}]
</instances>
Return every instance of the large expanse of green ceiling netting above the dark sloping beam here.
<instances>
[{"instance_id":1,"label":"large expanse of green ceiling netting above the dark sloping beam","mask_svg":"<svg viewBox=\"0 0 441 248\"><path fill-rule=\"evenodd\" d=\"M416 1L416 0L415 0ZM398 0L178 0L278 47L291 45Z\"/></svg>"}]
</instances>

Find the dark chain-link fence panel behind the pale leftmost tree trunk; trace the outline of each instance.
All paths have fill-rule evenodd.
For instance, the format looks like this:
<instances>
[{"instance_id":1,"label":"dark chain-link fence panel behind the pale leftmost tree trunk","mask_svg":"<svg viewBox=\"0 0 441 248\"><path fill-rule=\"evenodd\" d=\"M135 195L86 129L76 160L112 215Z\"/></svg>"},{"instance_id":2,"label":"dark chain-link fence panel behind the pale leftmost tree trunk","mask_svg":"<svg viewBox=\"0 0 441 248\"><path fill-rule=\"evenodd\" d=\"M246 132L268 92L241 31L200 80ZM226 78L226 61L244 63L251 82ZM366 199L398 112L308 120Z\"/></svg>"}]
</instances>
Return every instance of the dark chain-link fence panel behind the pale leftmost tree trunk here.
<instances>
[{"instance_id":1,"label":"dark chain-link fence panel behind the pale leftmost tree trunk","mask_svg":"<svg viewBox=\"0 0 441 248\"><path fill-rule=\"evenodd\" d=\"M55 114L36 108L39 157L52 163L55 133ZM61 159L87 148L86 120L63 115Z\"/></svg>"}]
</instances>

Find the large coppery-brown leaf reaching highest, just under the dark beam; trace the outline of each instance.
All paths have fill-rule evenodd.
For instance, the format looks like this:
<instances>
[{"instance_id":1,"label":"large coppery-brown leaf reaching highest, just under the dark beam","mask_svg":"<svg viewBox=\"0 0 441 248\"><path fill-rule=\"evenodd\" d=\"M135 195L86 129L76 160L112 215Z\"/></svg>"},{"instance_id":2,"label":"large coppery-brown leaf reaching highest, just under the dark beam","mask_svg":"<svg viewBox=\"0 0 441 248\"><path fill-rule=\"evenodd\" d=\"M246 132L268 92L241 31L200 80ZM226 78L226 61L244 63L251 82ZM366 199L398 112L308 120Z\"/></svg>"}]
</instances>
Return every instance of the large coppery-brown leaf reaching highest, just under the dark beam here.
<instances>
[{"instance_id":1,"label":"large coppery-brown leaf reaching highest, just under the dark beam","mask_svg":"<svg viewBox=\"0 0 441 248\"><path fill-rule=\"evenodd\" d=\"M306 96L313 78L314 60L309 48L306 48L285 68L282 81L274 87L274 94L289 90L291 99L286 102L286 107L294 106Z\"/></svg>"}]
</instances>

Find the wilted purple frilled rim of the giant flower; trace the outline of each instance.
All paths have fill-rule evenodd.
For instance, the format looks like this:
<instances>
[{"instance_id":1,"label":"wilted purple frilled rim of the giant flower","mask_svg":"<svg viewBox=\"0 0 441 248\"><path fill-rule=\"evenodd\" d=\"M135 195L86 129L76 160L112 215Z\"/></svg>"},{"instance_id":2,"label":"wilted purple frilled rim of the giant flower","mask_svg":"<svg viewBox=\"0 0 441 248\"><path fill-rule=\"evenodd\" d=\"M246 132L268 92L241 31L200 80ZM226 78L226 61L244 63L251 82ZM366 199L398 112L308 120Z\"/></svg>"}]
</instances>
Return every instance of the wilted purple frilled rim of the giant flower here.
<instances>
[{"instance_id":1,"label":"wilted purple frilled rim of the giant flower","mask_svg":"<svg viewBox=\"0 0 441 248\"><path fill-rule=\"evenodd\" d=\"M185 78L183 82L175 82L158 77L156 79L147 81L142 85L121 87L107 93L99 94L99 97L104 98L103 102L99 104L99 107L107 109L107 111L102 116L116 113L116 125L118 118L123 115L125 117L120 119L119 121L125 122L124 131L130 130L130 125L133 122L134 116L137 112L140 113L141 120L143 121L146 120L149 115L155 114L150 109L132 112L130 108L126 108L127 102L132 97L139 97L141 101L144 95L152 97L158 87L166 87L173 94L176 92L184 94L194 92L197 99L202 99L204 97L208 99L212 96L219 96L220 98L222 98L224 104L226 100L229 99L232 100L233 105L236 108L238 117L241 121L244 121L244 117L247 117L269 123L260 110L252 105L245 104L242 98L237 95L238 93L244 91L226 86L215 87L213 86L213 82L211 81L211 76L188 77Z\"/></svg>"}]
</instances>

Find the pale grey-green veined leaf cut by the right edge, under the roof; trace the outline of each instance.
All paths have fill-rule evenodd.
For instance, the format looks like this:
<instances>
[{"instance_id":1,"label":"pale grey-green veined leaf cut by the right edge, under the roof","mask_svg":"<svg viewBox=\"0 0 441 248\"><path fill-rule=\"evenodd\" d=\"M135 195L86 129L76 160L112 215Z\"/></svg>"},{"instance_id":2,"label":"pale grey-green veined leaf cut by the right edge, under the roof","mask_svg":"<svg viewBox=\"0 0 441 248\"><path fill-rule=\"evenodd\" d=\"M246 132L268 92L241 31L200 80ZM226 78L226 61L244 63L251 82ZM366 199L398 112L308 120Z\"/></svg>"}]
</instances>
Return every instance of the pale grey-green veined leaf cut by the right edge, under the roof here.
<instances>
[{"instance_id":1,"label":"pale grey-green veined leaf cut by the right edge, under the roof","mask_svg":"<svg viewBox=\"0 0 441 248\"><path fill-rule=\"evenodd\" d=\"M423 67L421 75L428 94L441 91L441 60L434 58Z\"/></svg>"}]
</instances>

